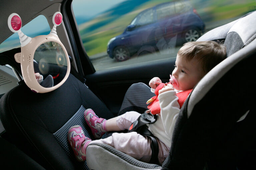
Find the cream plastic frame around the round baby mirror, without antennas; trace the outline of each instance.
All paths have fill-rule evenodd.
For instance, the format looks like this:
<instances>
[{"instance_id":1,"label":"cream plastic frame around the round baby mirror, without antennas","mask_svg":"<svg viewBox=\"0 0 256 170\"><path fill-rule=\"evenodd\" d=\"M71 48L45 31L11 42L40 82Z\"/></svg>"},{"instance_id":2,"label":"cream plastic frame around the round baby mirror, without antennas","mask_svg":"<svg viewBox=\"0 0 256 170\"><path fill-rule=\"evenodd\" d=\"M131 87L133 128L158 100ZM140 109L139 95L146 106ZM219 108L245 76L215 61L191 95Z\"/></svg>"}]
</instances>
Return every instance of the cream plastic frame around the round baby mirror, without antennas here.
<instances>
[{"instance_id":1,"label":"cream plastic frame around the round baby mirror, without antennas","mask_svg":"<svg viewBox=\"0 0 256 170\"><path fill-rule=\"evenodd\" d=\"M67 72L63 80L53 87L42 87L36 80L34 72L34 53L36 49L45 42L57 42L63 49L67 60ZM67 51L64 45L60 42L59 38L53 34L37 36L31 39L31 41L21 47L21 52L15 54L15 60L21 64L21 72L26 85L36 93L46 93L55 90L60 87L67 79L70 72L70 61ZM54 56L56 57L56 56Z\"/></svg>"}]
</instances>

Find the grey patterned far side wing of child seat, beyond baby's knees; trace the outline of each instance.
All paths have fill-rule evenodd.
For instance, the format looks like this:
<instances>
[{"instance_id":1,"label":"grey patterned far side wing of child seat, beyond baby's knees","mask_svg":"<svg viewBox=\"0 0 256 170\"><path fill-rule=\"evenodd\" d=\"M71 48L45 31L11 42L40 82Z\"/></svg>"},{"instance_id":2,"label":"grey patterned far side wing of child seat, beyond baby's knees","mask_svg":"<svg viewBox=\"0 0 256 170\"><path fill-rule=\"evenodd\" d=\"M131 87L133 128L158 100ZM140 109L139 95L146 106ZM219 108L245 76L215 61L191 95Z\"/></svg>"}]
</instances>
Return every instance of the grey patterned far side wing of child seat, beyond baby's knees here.
<instances>
[{"instance_id":1,"label":"grey patterned far side wing of child seat, beyond baby's knees","mask_svg":"<svg viewBox=\"0 0 256 170\"><path fill-rule=\"evenodd\" d=\"M155 94L151 92L150 87L146 84L132 84L125 93L118 116L129 111L144 113L148 109L146 102L153 96Z\"/></svg>"}]
</instances>

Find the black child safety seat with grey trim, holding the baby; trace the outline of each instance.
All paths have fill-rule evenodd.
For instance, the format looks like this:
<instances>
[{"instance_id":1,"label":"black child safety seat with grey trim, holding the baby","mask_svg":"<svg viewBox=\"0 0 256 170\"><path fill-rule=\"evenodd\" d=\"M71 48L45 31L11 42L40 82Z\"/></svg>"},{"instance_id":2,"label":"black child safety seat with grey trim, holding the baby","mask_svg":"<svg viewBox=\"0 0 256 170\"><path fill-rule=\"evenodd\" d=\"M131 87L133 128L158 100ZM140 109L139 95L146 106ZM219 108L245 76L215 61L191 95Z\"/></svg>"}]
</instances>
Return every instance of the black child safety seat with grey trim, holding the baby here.
<instances>
[{"instance_id":1,"label":"black child safety seat with grey trim, holding the baby","mask_svg":"<svg viewBox=\"0 0 256 170\"><path fill-rule=\"evenodd\" d=\"M203 77L184 103L169 157L161 167L146 164L144 169L255 168L255 28L256 12L252 12L198 39L225 40L227 58ZM104 147L96 143L87 147L90 169L102 168L100 162L104 162L104 169L111 170L143 168L138 166L140 161L118 157Z\"/></svg>"}]
</instances>

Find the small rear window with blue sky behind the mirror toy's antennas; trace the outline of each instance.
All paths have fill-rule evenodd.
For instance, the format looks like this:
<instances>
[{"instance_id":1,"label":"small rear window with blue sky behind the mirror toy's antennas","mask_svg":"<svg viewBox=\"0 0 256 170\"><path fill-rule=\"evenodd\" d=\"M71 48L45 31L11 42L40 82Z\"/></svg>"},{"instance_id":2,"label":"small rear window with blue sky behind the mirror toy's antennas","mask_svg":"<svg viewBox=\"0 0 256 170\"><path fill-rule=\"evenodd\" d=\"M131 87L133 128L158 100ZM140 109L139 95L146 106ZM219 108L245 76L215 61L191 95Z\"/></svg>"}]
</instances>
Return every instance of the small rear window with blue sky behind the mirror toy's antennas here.
<instances>
[{"instance_id":1,"label":"small rear window with blue sky behind the mirror toy's antennas","mask_svg":"<svg viewBox=\"0 0 256 170\"><path fill-rule=\"evenodd\" d=\"M21 28L21 31L28 37L33 38L39 35L47 35L51 30L46 18L43 15L39 15L28 24L24 25ZM20 40L18 34L16 33L0 44L0 52L17 47L20 47Z\"/></svg>"}]
</instances>

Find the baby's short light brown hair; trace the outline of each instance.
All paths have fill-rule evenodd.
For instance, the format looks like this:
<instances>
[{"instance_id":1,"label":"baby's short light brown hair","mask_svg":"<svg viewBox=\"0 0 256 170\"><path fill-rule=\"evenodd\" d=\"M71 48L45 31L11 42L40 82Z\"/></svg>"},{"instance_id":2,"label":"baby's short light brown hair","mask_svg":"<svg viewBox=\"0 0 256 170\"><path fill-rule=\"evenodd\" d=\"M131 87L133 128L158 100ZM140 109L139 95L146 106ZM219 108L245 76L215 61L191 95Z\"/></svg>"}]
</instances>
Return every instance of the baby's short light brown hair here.
<instances>
[{"instance_id":1,"label":"baby's short light brown hair","mask_svg":"<svg viewBox=\"0 0 256 170\"><path fill-rule=\"evenodd\" d=\"M178 55L187 61L198 59L206 74L226 58L226 47L219 41L187 42L180 48Z\"/></svg>"}]
</instances>

